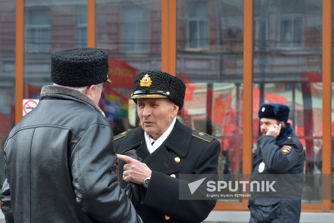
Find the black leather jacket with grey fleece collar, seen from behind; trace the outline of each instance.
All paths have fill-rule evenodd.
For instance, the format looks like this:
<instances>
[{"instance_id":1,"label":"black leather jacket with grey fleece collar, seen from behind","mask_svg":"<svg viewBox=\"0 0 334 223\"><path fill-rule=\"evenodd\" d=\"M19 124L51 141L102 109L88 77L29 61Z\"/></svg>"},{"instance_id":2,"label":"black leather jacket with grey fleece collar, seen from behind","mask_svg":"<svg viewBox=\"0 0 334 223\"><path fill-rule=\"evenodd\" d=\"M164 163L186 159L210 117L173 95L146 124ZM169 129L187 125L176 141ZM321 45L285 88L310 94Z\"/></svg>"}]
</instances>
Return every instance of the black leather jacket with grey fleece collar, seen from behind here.
<instances>
[{"instance_id":1,"label":"black leather jacket with grey fleece collar, seen from behind","mask_svg":"<svg viewBox=\"0 0 334 223\"><path fill-rule=\"evenodd\" d=\"M41 96L4 146L6 222L141 222L113 171L113 132L101 109L66 87L46 85Z\"/></svg>"}]
</instances>

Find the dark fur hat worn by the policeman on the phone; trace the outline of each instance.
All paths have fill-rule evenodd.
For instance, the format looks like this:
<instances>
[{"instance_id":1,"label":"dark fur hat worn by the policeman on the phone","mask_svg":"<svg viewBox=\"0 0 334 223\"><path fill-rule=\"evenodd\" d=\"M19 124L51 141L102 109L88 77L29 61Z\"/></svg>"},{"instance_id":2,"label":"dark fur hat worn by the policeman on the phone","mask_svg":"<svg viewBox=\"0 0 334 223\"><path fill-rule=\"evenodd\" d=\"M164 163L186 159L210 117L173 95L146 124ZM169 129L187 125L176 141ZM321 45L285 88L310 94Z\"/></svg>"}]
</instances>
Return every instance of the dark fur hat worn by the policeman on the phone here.
<instances>
[{"instance_id":1,"label":"dark fur hat worn by the policeman on the phone","mask_svg":"<svg viewBox=\"0 0 334 223\"><path fill-rule=\"evenodd\" d=\"M262 104L259 109L259 118L272 118L287 122L290 108L283 104Z\"/></svg>"}]
</instances>

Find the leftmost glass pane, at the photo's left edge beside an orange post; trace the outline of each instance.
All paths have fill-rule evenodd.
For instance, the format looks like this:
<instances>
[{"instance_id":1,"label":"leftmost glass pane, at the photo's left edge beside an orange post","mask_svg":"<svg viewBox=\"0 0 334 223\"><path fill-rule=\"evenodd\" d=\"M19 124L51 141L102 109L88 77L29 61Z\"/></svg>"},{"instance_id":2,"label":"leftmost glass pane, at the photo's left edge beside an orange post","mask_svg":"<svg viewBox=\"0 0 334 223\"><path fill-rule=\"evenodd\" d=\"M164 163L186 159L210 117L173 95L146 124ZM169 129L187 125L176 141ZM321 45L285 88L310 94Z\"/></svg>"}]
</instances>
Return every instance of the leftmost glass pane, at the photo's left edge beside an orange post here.
<instances>
[{"instance_id":1,"label":"leftmost glass pane, at the photo's left edge beside an orange post","mask_svg":"<svg viewBox=\"0 0 334 223\"><path fill-rule=\"evenodd\" d=\"M0 154L15 122L15 0L0 1ZM0 184L5 181L4 159L0 159Z\"/></svg>"}]
</instances>

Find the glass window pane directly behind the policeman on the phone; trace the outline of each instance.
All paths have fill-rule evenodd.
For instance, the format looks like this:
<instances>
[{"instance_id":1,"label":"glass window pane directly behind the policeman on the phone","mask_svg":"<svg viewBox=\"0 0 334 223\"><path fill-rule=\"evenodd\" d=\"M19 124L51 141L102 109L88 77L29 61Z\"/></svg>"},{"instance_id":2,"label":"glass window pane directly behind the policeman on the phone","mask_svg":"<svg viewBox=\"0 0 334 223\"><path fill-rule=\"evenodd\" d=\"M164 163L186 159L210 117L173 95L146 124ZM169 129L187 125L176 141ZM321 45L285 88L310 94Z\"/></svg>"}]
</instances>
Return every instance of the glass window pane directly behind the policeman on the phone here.
<instances>
[{"instance_id":1,"label":"glass window pane directly behind the policeman on the phone","mask_svg":"<svg viewBox=\"0 0 334 223\"><path fill-rule=\"evenodd\" d=\"M305 174L321 173L322 1L254 0L253 145L262 103L289 106L306 152ZM321 179L304 186L306 194ZM319 184L319 185L316 185ZM321 190L305 202L321 200Z\"/></svg>"}]
</instances>

